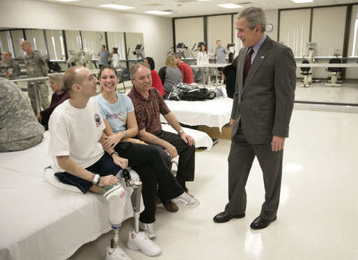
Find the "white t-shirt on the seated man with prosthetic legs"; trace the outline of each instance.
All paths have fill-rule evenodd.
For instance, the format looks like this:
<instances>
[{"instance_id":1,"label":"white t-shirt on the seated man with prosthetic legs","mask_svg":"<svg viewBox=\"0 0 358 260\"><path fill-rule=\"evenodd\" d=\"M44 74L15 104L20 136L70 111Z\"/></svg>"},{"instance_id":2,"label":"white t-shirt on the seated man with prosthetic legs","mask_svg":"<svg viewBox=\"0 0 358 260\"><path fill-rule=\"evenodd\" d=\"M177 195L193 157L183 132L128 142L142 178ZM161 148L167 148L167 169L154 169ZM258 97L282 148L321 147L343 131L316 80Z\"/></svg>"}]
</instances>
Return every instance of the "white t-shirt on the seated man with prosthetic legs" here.
<instances>
[{"instance_id":1,"label":"white t-shirt on the seated man with prosthetic legs","mask_svg":"<svg viewBox=\"0 0 358 260\"><path fill-rule=\"evenodd\" d=\"M89 99L85 108L75 108L70 100L56 107L49 118L49 155L54 161L54 172L65 172L59 167L56 156L70 158L87 168L104 154L98 142L104 122L95 99Z\"/></svg>"}]
</instances>

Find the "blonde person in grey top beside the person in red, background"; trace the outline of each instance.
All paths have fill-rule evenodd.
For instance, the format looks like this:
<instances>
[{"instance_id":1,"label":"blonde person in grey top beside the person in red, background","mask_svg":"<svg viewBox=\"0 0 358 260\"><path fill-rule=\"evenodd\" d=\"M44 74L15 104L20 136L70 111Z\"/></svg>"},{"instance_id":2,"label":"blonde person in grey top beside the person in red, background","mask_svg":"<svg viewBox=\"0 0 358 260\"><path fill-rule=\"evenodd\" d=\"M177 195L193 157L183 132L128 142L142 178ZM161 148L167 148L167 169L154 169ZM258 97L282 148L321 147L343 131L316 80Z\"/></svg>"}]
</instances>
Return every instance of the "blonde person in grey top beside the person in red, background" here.
<instances>
[{"instance_id":1,"label":"blonde person in grey top beside the person in red, background","mask_svg":"<svg viewBox=\"0 0 358 260\"><path fill-rule=\"evenodd\" d=\"M166 56L164 67L159 70L158 75L162 81L165 91L164 99L166 99L173 86L182 82L182 72L176 66L176 58L173 55Z\"/></svg>"}]
</instances>

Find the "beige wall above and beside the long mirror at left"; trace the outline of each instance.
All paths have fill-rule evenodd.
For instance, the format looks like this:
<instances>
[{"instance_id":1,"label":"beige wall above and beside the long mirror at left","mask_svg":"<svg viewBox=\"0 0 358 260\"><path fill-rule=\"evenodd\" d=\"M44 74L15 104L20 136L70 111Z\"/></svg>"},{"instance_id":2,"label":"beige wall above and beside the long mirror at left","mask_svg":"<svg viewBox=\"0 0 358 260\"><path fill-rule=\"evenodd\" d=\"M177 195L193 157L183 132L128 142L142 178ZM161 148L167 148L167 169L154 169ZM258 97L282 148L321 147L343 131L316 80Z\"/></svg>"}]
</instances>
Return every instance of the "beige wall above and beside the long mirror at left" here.
<instances>
[{"instance_id":1,"label":"beige wall above and beside the long mirror at left","mask_svg":"<svg viewBox=\"0 0 358 260\"><path fill-rule=\"evenodd\" d=\"M168 17L32 0L1 0L0 10L2 27L143 33L146 56L155 60L164 60L173 45Z\"/></svg>"}]
</instances>

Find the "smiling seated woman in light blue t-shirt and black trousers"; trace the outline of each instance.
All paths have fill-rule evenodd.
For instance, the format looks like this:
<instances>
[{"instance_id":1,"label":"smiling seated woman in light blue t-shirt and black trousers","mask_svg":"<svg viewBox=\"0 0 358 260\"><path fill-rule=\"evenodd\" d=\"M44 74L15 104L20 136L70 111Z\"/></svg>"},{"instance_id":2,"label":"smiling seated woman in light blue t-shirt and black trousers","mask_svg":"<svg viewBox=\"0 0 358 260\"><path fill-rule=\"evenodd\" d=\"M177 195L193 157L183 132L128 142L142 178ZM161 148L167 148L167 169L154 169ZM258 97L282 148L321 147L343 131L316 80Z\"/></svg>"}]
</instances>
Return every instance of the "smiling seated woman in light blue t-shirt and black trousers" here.
<instances>
[{"instance_id":1,"label":"smiling seated woman in light blue t-shirt and black trousers","mask_svg":"<svg viewBox=\"0 0 358 260\"><path fill-rule=\"evenodd\" d=\"M128 159L128 166L141 177L146 209L140 214L139 227L149 238L155 238L157 187L158 196L169 211L178 211L178 206L171 200L188 208L196 207L199 202L184 192L158 150L135 138L138 126L134 106L129 97L116 92L119 78L114 67L104 65L99 77L103 90L95 99L104 118L104 133L108 136L104 147L112 147L121 157ZM173 207L176 208L175 211Z\"/></svg>"}]
</instances>

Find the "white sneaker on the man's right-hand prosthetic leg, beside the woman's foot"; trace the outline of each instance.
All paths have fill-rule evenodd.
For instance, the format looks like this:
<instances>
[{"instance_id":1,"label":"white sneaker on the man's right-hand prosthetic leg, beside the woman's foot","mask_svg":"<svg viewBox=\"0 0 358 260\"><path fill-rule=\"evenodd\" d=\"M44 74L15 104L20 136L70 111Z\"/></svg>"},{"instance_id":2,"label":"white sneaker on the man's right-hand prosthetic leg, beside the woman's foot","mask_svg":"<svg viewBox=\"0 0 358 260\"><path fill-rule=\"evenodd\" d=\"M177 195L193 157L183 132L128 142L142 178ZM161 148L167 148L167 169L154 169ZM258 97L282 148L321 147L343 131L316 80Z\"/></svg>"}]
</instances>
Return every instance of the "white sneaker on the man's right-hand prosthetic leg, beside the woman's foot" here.
<instances>
[{"instance_id":1,"label":"white sneaker on the man's right-hand prosthetic leg, beside the woman's foot","mask_svg":"<svg viewBox=\"0 0 358 260\"><path fill-rule=\"evenodd\" d=\"M135 234L134 231L130 231L127 247L131 250L141 250L148 257L154 257L162 252L159 245L151 241L144 232Z\"/></svg>"}]
</instances>

